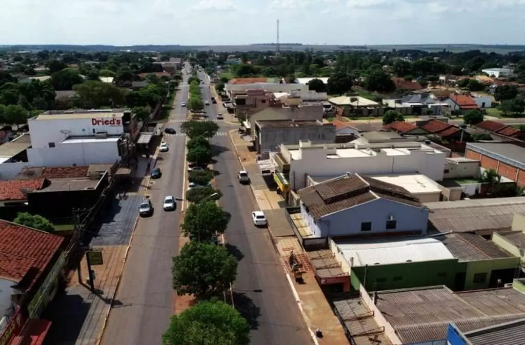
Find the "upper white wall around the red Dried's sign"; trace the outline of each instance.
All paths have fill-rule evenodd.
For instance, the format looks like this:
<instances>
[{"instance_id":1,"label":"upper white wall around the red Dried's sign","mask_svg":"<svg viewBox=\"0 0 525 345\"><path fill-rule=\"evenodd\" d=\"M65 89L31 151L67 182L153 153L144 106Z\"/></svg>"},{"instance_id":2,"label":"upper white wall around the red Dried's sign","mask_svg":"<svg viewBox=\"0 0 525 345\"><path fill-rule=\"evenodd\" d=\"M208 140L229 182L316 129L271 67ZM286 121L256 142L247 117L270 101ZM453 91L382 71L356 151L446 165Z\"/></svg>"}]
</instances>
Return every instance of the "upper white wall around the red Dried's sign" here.
<instances>
[{"instance_id":1,"label":"upper white wall around the red Dried's sign","mask_svg":"<svg viewBox=\"0 0 525 345\"><path fill-rule=\"evenodd\" d=\"M64 114L67 116L67 114ZM98 118L96 113L93 113L93 119ZM105 120L112 120L112 118L104 118ZM120 121L120 126L93 126L91 119L64 119L64 120L36 120L30 119L29 134L31 135L31 146L35 148L48 148L49 143L55 144L66 139L66 136L83 136L93 135L95 132L108 132L109 135L119 135L124 132L122 127L122 119L115 118ZM60 130L69 130L70 133L62 134ZM95 130L95 132L93 132ZM58 145L57 145L58 146Z\"/></svg>"}]
</instances>

